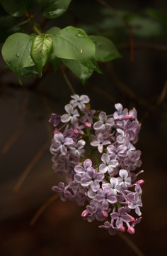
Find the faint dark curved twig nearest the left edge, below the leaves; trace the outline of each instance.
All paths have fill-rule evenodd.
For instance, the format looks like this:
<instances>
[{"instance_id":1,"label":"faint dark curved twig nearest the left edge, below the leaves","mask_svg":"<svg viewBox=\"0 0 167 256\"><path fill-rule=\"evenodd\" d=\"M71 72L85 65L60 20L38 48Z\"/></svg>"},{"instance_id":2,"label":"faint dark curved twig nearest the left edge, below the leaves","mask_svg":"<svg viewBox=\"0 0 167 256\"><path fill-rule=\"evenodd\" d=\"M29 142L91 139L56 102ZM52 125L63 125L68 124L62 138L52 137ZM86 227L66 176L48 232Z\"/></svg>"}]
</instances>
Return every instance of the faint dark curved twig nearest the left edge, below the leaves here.
<instances>
[{"instance_id":1,"label":"faint dark curved twig nearest the left edge, below the leaves","mask_svg":"<svg viewBox=\"0 0 167 256\"><path fill-rule=\"evenodd\" d=\"M25 100L23 102L23 106L21 107L21 118L18 122L18 127L17 127L16 131L11 135L10 139L8 139L8 141L4 145L3 149L1 149L1 152L0 152L1 155L4 155L8 152L8 150L11 148L13 143L16 142L16 140L18 139L18 136L21 134L29 97L30 97L30 94L28 93L28 95L26 95Z\"/></svg>"}]
</instances>

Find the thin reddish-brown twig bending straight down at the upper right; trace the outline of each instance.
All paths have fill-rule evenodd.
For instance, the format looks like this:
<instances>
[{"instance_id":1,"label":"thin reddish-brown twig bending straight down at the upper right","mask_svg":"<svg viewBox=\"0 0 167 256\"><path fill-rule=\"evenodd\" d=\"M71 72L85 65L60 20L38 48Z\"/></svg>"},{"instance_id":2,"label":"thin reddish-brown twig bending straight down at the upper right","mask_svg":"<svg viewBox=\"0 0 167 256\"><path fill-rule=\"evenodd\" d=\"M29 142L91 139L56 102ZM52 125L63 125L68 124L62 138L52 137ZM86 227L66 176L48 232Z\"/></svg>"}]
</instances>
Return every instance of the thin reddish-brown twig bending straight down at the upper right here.
<instances>
[{"instance_id":1,"label":"thin reddish-brown twig bending straight down at the upper right","mask_svg":"<svg viewBox=\"0 0 167 256\"><path fill-rule=\"evenodd\" d=\"M117 16L118 18L120 18L120 20L125 23L125 26L127 27L128 31L129 31L129 46L130 46L130 61L133 62L134 61L134 36L133 36L133 31L132 31L132 27L129 25L129 23L125 20L125 18L123 18L120 14L117 13L117 11L115 11L115 9L113 9L106 1L103 0L97 0L98 3L100 3L101 5L105 6L106 8L108 8L110 11L113 12L113 14L115 14L115 16Z\"/></svg>"}]
</instances>

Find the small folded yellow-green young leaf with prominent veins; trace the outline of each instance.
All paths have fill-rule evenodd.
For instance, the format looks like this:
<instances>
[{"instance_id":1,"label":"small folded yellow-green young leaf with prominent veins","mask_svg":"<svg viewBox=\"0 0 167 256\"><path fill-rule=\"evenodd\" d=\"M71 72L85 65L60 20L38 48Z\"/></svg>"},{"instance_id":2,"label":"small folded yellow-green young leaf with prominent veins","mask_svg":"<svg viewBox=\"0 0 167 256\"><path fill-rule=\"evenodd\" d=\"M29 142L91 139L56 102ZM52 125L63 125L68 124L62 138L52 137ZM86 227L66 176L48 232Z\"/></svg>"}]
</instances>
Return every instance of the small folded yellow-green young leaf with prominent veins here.
<instances>
[{"instance_id":1,"label":"small folded yellow-green young leaf with prominent veins","mask_svg":"<svg viewBox=\"0 0 167 256\"><path fill-rule=\"evenodd\" d=\"M52 38L47 35L36 36L35 40L33 41L30 54L38 69L40 78L42 76L42 68L45 66L47 59L50 57L52 43Z\"/></svg>"}]
</instances>

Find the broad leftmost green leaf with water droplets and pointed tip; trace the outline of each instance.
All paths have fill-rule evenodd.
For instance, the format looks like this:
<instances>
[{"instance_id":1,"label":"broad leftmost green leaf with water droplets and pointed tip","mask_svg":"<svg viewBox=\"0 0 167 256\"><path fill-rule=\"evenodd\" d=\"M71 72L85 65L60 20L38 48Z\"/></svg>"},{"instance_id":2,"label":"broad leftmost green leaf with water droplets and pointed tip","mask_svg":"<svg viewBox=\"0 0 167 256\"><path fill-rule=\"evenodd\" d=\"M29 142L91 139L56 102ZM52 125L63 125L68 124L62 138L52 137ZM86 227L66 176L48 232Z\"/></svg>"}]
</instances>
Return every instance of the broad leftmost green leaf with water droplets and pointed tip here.
<instances>
[{"instance_id":1,"label":"broad leftmost green leaf with water droplets and pointed tip","mask_svg":"<svg viewBox=\"0 0 167 256\"><path fill-rule=\"evenodd\" d=\"M22 68L34 65L30 56L33 38L34 35L29 36L25 33L14 33L6 39L2 47L1 53L5 62L16 73L21 85Z\"/></svg>"}]
</instances>

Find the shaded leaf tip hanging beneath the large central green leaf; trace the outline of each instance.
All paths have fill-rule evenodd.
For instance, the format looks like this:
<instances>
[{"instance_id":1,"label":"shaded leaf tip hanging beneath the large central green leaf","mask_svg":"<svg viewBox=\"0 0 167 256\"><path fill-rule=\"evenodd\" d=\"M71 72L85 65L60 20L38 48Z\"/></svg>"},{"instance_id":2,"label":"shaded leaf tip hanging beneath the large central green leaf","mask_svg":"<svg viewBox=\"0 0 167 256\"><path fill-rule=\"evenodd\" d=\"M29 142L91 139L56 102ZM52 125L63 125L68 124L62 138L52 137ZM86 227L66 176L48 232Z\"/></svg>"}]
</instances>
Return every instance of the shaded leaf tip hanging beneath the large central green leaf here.
<instances>
[{"instance_id":1,"label":"shaded leaf tip hanging beneath the large central green leaf","mask_svg":"<svg viewBox=\"0 0 167 256\"><path fill-rule=\"evenodd\" d=\"M67 67L81 80L84 84L93 73L93 70L79 63L77 60L63 60Z\"/></svg>"}]
</instances>

